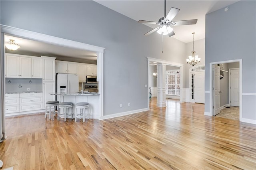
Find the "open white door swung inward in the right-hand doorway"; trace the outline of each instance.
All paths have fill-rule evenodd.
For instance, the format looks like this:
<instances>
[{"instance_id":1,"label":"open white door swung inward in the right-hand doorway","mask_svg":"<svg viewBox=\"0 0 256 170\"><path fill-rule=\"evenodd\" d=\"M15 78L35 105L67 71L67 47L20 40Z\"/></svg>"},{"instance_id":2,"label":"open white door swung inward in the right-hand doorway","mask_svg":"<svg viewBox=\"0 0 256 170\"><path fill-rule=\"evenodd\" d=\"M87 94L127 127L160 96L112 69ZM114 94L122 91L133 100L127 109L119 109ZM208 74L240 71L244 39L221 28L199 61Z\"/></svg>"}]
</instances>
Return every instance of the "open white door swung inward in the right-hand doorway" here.
<instances>
[{"instance_id":1,"label":"open white door swung inward in the right-hand doorway","mask_svg":"<svg viewBox=\"0 0 256 170\"><path fill-rule=\"evenodd\" d=\"M220 113L220 66L213 65L213 115Z\"/></svg>"}]
</instances>

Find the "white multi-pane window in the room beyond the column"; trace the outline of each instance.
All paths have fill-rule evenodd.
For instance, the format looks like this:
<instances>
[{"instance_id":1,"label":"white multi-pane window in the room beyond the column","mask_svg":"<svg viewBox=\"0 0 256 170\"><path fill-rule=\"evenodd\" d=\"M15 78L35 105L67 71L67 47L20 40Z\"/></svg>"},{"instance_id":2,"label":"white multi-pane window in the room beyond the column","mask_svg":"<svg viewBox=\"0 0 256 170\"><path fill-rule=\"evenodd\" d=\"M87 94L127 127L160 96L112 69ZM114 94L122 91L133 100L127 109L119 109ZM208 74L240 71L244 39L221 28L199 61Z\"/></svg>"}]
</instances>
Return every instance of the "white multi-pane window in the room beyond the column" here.
<instances>
[{"instance_id":1,"label":"white multi-pane window in the room beyond the column","mask_svg":"<svg viewBox=\"0 0 256 170\"><path fill-rule=\"evenodd\" d=\"M166 71L166 95L180 95L180 70Z\"/></svg>"}]
</instances>

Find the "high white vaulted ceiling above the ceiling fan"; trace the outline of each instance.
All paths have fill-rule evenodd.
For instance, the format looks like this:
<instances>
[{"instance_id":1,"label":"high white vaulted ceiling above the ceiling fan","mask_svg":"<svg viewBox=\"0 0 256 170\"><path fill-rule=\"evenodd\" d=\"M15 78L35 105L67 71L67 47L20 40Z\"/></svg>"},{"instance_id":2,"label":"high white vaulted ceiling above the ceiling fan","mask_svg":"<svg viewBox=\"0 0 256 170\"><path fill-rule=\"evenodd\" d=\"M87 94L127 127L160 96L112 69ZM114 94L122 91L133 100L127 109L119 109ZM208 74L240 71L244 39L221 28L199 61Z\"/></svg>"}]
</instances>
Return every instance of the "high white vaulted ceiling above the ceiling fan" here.
<instances>
[{"instance_id":1,"label":"high white vaulted ceiling above the ceiling fan","mask_svg":"<svg viewBox=\"0 0 256 170\"><path fill-rule=\"evenodd\" d=\"M95 2L136 21L158 22L159 18L164 16L164 0L95 0ZM205 38L205 15L235 2L238 0L166 0L166 14L171 7L180 9L174 21L198 19L196 25L173 26L175 35L172 37L188 43L193 41L192 32L195 32L195 41ZM154 25L148 26L156 28Z\"/></svg>"}]
</instances>

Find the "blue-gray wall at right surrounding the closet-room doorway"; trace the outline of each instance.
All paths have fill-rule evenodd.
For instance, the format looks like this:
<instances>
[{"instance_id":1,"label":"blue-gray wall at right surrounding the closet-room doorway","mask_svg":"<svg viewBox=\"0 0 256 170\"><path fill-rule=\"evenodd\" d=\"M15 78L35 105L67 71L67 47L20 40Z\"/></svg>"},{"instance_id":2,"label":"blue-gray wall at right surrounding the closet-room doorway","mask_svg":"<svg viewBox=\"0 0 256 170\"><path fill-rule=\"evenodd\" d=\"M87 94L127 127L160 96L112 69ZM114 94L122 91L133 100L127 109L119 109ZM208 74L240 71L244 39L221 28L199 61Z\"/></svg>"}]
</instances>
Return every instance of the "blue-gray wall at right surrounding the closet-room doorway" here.
<instances>
[{"instance_id":1,"label":"blue-gray wall at right surrounding the closet-room doorway","mask_svg":"<svg viewBox=\"0 0 256 170\"><path fill-rule=\"evenodd\" d=\"M256 120L256 1L239 1L206 15L205 90L210 91L211 62L242 59L242 118ZM242 21L243 24L238 24ZM254 75L254 76L252 76ZM205 95L209 103L209 93ZM250 107L247 107L250 106ZM210 106L205 105L210 112Z\"/></svg>"}]
</instances>

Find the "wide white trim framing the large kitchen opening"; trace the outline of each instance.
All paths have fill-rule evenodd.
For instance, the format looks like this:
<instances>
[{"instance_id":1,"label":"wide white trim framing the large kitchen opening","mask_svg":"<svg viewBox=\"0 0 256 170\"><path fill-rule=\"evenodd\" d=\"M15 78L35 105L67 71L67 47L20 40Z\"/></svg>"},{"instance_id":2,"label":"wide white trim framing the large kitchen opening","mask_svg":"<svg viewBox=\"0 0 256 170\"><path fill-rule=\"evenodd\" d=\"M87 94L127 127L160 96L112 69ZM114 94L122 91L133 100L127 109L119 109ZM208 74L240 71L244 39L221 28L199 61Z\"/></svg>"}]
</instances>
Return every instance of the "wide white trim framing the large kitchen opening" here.
<instances>
[{"instance_id":1,"label":"wide white trim framing the large kitchen opening","mask_svg":"<svg viewBox=\"0 0 256 170\"><path fill-rule=\"evenodd\" d=\"M99 88L99 115L96 119L100 119L103 117L103 53L104 53L104 47L98 47L95 45L90 45L86 43L81 43L81 42L76 42L64 38L59 38L59 37L54 37L54 36L49 36L47 34L41 34L38 32L32 32L28 30L23 30L20 28L15 28L11 26L6 26L6 25L0 25L1 26L1 35L12 35L12 36L17 36L20 38L25 38L25 39L30 39L34 41L39 41L39 42L44 42L44 43L50 43L54 45L60 45L64 47L71 47L74 49L84 49L84 50L89 50L89 51L94 51L97 54L97 78L99 80L98 88ZM3 33L3 34L2 34ZM1 49L4 47L4 43L1 44ZM5 51L4 51L5 55ZM5 83L4 83L5 84ZM5 88L4 88L4 93L5 93Z\"/></svg>"}]
</instances>

